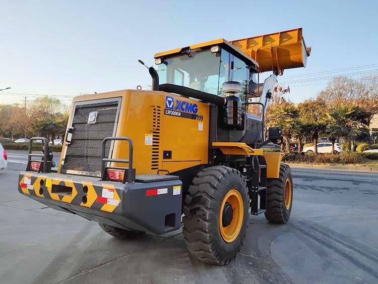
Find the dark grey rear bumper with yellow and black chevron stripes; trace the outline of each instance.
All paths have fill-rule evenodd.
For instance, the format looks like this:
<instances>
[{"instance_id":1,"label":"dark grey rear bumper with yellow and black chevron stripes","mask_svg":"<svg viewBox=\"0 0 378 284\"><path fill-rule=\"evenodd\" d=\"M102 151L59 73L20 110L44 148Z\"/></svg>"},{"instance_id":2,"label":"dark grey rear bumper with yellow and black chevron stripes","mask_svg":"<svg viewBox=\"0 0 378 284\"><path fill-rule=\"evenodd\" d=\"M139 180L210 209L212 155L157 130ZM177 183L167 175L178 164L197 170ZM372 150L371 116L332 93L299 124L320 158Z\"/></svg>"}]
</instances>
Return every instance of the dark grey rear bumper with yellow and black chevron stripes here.
<instances>
[{"instance_id":1,"label":"dark grey rear bumper with yellow and black chevron stripes","mask_svg":"<svg viewBox=\"0 0 378 284\"><path fill-rule=\"evenodd\" d=\"M161 235L181 226L182 183L178 179L122 184L92 177L21 172L18 190L56 210L118 228Z\"/></svg>"}]
</instances>

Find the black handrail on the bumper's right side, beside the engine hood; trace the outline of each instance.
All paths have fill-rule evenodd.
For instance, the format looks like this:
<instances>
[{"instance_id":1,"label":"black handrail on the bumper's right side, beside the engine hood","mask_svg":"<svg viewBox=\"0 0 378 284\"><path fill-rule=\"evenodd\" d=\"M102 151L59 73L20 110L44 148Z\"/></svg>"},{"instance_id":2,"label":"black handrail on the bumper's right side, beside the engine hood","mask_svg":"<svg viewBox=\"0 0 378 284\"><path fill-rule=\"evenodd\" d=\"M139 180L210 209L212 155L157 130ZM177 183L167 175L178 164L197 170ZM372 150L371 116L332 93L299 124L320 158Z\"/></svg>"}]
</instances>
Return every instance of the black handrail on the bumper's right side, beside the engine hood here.
<instances>
[{"instance_id":1,"label":"black handrail on the bumper's right side, beside the engine hood","mask_svg":"<svg viewBox=\"0 0 378 284\"><path fill-rule=\"evenodd\" d=\"M113 159L105 157L105 149L107 141L128 141L129 142L129 159ZM133 141L129 137L106 137L102 140L102 153L101 153L101 176L102 179L105 177L105 162L117 162L117 163L128 163L129 168L125 169L125 175L123 176L123 183L126 181L128 183L135 182L135 170L133 169ZM126 175L127 174L127 175ZM127 180L126 180L127 177Z\"/></svg>"}]
</instances>

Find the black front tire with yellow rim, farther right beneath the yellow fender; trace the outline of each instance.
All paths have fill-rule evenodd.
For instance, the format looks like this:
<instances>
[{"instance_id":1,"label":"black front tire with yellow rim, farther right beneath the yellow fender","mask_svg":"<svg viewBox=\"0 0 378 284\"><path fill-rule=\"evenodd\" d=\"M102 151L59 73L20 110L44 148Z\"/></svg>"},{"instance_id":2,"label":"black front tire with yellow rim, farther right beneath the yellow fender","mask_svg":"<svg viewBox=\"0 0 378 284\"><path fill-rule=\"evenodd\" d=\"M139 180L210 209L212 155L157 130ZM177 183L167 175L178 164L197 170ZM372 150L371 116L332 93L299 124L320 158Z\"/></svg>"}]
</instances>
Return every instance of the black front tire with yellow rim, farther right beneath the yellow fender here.
<instances>
[{"instance_id":1,"label":"black front tire with yellow rim, farther right beneath the yellow fender","mask_svg":"<svg viewBox=\"0 0 378 284\"><path fill-rule=\"evenodd\" d=\"M287 164L281 164L280 177L268 179L265 217L274 223L286 223L293 203L293 179Z\"/></svg>"}]
</instances>

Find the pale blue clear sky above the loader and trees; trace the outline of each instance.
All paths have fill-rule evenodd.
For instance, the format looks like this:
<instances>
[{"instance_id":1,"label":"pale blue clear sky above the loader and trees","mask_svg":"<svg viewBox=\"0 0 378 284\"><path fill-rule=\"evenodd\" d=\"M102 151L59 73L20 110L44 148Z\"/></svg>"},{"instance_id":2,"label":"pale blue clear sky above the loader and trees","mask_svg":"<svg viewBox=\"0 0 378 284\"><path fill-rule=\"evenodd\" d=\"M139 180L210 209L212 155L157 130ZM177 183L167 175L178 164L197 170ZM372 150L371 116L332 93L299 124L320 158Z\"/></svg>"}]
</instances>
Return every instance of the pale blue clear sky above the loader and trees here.
<instances>
[{"instance_id":1,"label":"pale blue clear sky above the loader and trees","mask_svg":"<svg viewBox=\"0 0 378 284\"><path fill-rule=\"evenodd\" d=\"M151 81L138 59L152 66L159 51L298 27L312 50L305 69L279 78L296 82L291 101L326 86L311 73L368 65L378 74L378 1L0 0L0 11L0 89L11 87L0 104L136 88Z\"/></svg>"}]
</instances>

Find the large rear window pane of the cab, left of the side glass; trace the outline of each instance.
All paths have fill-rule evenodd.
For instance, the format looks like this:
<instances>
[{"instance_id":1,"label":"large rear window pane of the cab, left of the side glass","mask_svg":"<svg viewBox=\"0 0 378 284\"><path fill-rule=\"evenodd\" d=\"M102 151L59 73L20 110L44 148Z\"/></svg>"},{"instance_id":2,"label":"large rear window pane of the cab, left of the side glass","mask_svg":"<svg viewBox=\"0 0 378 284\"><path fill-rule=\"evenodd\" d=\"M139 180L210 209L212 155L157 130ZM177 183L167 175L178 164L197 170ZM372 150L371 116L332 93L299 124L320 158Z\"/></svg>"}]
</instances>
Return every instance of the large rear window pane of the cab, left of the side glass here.
<instances>
[{"instance_id":1,"label":"large rear window pane of the cab, left of the side glass","mask_svg":"<svg viewBox=\"0 0 378 284\"><path fill-rule=\"evenodd\" d=\"M165 59L158 66L160 84L168 83L218 94L220 54L210 50Z\"/></svg>"}]
</instances>

